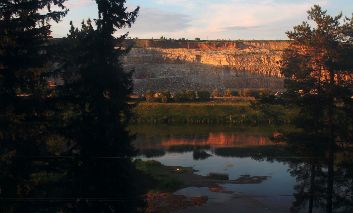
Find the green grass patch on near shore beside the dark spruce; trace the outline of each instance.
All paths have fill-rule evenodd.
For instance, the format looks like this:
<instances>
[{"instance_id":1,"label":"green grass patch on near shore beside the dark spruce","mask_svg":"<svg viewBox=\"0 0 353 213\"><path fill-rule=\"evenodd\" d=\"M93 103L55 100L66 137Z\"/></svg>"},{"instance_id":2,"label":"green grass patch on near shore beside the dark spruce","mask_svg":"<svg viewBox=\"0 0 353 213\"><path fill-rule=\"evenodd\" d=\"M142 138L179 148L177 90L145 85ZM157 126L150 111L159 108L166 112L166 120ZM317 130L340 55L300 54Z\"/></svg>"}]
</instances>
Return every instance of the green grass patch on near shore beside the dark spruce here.
<instances>
[{"instance_id":1,"label":"green grass patch on near shore beside the dark spruce","mask_svg":"<svg viewBox=\"0 0 353 213\"><path fill-rule=\"evenodd\" d=\"M154 178L154 184L150 184L150 188L148 189L150 192L158 192L163 190L177 189L181 185L183 185L183 181L174 178L168 174L161 173L161 169L171 169L176 172L185 172L183 169L177 170L173 166L164 166L161 162L156 160L146 160L143 161L141 159L136 159L133 161L136 165L136 168L142 170L144 173L150 175Z\"/></svg>"}]
</instances>

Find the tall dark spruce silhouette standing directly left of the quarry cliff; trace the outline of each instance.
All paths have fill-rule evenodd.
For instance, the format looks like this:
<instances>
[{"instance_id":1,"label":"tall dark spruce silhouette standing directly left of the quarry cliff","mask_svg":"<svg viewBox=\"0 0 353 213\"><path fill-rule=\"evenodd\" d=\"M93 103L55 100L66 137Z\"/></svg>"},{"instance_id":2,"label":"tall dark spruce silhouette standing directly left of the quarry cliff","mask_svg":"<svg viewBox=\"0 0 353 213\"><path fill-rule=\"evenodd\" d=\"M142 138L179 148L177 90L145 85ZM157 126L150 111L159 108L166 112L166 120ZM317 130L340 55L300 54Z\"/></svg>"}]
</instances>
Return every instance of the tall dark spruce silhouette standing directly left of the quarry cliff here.
<instances>
[{"instance_id":1,"label":"tall dark spruce silhouette standing directly left of the quarry cliff","mask_svg":"<svg viewBox=\"0 0 353 213\"><path fill-rule=\"evenodd\" d=\"M119 46L127 34L115 39L113 33L131 27L139 7L127 12L125 1L96 2L96 29L90 19L80 30L71 23L62 45L69 58L60 74L65 84L55 93L67 107L67 125L61 132L74 144L68 154L76 156L63 179L66 197L77 198L67 211L136 212L143 201L138 199L137 171L131 161L136 150L125 130L131 116L127 100L133 70L124 71L119 61L130 50Z\"/></svg>"}]
</instances>

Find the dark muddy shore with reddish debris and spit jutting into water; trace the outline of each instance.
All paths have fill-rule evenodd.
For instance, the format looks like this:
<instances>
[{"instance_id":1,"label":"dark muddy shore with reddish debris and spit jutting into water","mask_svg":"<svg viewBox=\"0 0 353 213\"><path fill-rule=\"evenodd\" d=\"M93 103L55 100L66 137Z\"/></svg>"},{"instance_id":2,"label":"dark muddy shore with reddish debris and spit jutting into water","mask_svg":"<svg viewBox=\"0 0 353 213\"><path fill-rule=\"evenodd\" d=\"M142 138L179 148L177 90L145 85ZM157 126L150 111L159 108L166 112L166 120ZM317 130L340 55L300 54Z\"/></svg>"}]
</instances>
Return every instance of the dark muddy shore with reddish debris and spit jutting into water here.
<instances>
[{"instance_id":1,"label":"dark muddy shore with reddish debris and spit jutting into water","mask_svg":"<svg viewBox=\"0 0 353 213\"><path fill-rule=\"evenodd\" d=\"M181 171L181 172L180 172ZM184 182L179 189L188 187L208 187L208 191L225 194L230 198L220 200L211 200L207 196L201 196L185 200L183 195L173 195L178 189L163 191L158 194L151 194L150 197L158 197L150 199L149 212L287 212L288 206L284 206L278 202L276 198L266 198L243 192L229 191L222 187L222 184L259 184L271 178L270 176L250 176L240 175L235 180L215 180L208 177L194 174L198 170L192 167L164 167L162 173L172 175ZM184 199L184 200L183 200Z\"/></svg>"}]
</instances>

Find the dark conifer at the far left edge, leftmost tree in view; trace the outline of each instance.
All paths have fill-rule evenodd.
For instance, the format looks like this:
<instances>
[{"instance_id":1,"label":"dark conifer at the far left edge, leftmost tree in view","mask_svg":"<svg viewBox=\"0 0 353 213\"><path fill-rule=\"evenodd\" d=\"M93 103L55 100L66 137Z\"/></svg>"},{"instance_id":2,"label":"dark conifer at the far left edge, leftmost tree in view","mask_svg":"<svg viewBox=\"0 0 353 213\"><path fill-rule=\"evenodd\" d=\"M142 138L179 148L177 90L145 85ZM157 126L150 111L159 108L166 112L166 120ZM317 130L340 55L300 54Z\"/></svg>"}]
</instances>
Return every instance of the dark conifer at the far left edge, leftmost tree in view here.
<instances>
[{"instance_id":1,"label":"dark conifer at the far left edge, leftmost tree in view","mask_svg":"<svg viewBox=\"0 0 353 213\"><path fill-rule=\"evenodd\" d=\"M66 0L4 0L0 2L0 204L1 212L38 212L31 198L46 198L47 184L38 172L50 172L46 147L49 70L49 21L67 14ZM51 7L61 11L52 11ZM59 8L59 9L60 9ZM40 14L47 9L46 14ZM22 202L19 202L21 200Z\"/></svg>"}]
</instances>

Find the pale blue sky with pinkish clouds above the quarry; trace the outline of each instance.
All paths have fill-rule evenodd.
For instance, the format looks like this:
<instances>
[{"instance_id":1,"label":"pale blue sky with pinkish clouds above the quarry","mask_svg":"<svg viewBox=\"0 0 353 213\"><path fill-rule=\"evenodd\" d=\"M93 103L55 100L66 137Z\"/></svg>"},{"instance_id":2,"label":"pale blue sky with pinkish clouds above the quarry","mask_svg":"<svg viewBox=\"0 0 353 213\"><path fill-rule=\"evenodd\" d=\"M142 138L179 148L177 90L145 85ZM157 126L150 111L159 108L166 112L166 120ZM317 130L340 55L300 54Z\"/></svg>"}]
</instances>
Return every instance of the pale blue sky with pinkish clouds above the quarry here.
<instances>
[{"instance_id":1,"label":"pale blue sky with pinkish clouds above the quarry","mask_svg":"<svg viewBox=\"0 0 353 213\"><path fill-rule=\"evenodd\" d=\"M342 11L343 17L352 18L352 0L126 0L128 12L140 7L139 16L131 28L114 36L128 32L140 39L288 40L285 32L308 21L306 11L314 4L331 16ZM93 0L68 0L64 5L70 11L60 23L51 23L54 38L67 35L70 21L80 28L83 19L98 17Z\"/></svg>"}]
</instances>

